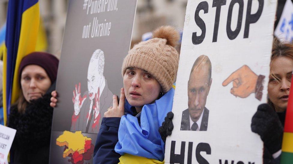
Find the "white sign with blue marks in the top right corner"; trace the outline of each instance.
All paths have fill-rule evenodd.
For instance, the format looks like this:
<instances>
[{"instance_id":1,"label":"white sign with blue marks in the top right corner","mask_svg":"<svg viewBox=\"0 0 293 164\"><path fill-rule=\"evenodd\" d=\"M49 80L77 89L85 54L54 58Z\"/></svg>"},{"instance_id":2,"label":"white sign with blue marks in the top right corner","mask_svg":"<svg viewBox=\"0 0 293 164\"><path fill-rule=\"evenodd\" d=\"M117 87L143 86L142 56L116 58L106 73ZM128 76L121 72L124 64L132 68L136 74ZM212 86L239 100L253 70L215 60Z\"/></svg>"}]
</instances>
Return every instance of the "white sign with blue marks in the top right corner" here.
<instances>
[{"instance_id":1,"label":"white sign with blue marks in the top right corner","mask_svg":"<svg viewBox=\"0 0 293 164\"><path fill-rule=\"evenodd\" d=\"M291 0L286 1L274 34L282 41L293 40L293 3Z\"/></svg>"}]
</instances>

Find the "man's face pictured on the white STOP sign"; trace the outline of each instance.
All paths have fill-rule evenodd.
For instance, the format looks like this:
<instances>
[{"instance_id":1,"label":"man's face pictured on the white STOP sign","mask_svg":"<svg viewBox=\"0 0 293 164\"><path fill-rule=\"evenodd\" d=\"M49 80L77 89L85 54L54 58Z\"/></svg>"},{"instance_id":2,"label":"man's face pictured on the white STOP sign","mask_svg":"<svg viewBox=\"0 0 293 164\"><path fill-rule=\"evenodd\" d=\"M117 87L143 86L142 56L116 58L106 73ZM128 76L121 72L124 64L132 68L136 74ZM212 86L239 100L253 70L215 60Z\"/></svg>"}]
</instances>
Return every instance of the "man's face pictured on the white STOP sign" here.
<instances>
[{"instance_id":1,"label":"man's face pictured on the white STOP sign","mask_svg":"<svg viewBox=\"0 0 293 164\"><path fill-rule=\"evenodd\" d=\"M201 116L212 84L211 62L205 56L199 56L191 69L188 81L188 109L192 121Z\"/></svg>"}]
</instances>

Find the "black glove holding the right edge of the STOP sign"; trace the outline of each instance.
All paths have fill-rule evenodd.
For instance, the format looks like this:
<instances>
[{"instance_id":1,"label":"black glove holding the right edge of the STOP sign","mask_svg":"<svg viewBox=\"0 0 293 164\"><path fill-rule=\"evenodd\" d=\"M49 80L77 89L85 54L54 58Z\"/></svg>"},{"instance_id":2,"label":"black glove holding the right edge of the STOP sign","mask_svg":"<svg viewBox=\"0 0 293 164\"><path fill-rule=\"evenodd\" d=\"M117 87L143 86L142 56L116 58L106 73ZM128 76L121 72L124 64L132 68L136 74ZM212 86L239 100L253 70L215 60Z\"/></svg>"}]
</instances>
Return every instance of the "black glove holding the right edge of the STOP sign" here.
<instances>
[{"instance_id":1,"label":"black glove holding the right edge of the STOP sign","mask_svg":"<svg viewBox=\"0 0 293 164\"><path fill-rule=\"evenodd\" d=\"M260 135L271 154L282 147L283 127L276 112L268 104L261 104L251 120L251 131Z\"/></svg>"}]
</instances>

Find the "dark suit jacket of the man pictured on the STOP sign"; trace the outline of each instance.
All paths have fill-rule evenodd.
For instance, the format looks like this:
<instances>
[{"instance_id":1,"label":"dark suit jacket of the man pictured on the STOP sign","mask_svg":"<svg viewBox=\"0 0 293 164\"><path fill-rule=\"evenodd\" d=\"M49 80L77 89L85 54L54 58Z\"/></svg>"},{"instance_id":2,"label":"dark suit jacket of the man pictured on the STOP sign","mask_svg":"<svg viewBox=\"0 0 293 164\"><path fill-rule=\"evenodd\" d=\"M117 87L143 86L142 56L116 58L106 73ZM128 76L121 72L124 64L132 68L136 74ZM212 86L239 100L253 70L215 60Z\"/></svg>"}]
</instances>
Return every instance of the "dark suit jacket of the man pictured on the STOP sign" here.
<instances>
[{"instance_id":1,"label":"dark suit jacket of the man pictured on the STOP sign","mask_svg":"<svg viewBox=\"0 0 293 164\"><path fill-rule=\"evenodd\" d=\"M207 122L209 120L209 110L204 107L204 111L202 112L203 116L201 119L201 127L199 131L207 131ZM181 119L181 131L190 131L190 119L189 119L189 110L186 109L182 112L182 119Z\"/></svg>"}]
</instances>

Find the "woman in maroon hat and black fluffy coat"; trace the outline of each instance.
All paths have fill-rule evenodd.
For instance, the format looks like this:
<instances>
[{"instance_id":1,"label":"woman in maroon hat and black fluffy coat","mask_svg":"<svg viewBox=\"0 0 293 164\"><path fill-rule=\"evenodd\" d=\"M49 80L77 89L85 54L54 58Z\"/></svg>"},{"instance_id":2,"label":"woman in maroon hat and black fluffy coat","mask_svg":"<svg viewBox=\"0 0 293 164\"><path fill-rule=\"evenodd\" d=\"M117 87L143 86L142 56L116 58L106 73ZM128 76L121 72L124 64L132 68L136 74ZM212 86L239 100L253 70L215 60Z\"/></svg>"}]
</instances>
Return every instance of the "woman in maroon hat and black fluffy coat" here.
<instances>
[{"instance_id":1,"label":"woman in maroon hat and black fluffy coat","mask_svg":"<svg viewBox=\"0 0 293 164\"><path fill-rule=\"evenodd\" d=\"M59 60L50 53L33 52L20 63L19 99L10 107L8 127L16 129L10 162L49 163L53 108L50 93L55 90Z\"/></svg>"}]
</instances>

